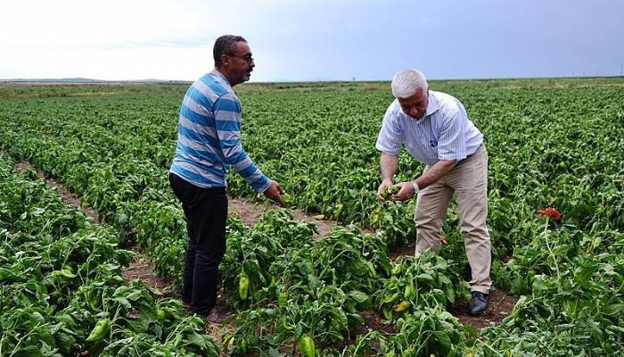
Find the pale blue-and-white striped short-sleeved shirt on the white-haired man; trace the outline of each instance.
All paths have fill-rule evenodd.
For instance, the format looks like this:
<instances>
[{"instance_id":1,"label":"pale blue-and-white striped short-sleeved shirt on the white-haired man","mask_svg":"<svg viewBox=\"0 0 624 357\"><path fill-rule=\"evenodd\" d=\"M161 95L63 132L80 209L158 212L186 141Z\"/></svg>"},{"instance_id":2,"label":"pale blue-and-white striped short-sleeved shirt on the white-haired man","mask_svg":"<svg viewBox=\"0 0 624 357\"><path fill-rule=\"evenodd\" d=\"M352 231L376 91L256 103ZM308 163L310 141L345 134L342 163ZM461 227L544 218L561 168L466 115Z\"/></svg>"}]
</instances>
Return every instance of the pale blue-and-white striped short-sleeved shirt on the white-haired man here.
<instances>
[{"instance_id":1,"label":"pale blue-and-white striped short-sleeved shirt on the white-haired man","mask_svg":"<svg viewBox=\"0 0 624 357\"><path fill-rule=\"evenodd\" d=\"M401 145L429 166L440 160L464 160L483 143L483 134L468 119L464 105L452 95L429 91L427 110L421 119L403 112L395 99L383 117L375 147L398 155Z\"/></svg>"}]
</instances>

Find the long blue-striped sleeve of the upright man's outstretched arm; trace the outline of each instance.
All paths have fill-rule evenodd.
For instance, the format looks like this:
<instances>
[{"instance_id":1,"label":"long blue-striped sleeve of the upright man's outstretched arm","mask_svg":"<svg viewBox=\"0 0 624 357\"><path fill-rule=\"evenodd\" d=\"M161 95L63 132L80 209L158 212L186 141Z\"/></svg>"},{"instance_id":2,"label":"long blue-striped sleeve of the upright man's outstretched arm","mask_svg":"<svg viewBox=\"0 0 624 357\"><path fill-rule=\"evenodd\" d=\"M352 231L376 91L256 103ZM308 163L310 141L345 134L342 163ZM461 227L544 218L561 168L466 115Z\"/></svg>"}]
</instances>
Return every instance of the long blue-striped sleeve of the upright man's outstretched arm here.
<instances>
[{"instance_id":1,"label":"long blue-striped sleeve of the upright man's outstretched arm","mask_svg":"<svg viewBox=\"0 0 624 357\"><path fill-rule=\"evenodd\" d=\"M222 95L215 102L215 125L221 150L227 164L241 175L256 192L264 192L271 181L251 161L241 144L241 103L232 93Z\"/></svg>"}]
</instances>

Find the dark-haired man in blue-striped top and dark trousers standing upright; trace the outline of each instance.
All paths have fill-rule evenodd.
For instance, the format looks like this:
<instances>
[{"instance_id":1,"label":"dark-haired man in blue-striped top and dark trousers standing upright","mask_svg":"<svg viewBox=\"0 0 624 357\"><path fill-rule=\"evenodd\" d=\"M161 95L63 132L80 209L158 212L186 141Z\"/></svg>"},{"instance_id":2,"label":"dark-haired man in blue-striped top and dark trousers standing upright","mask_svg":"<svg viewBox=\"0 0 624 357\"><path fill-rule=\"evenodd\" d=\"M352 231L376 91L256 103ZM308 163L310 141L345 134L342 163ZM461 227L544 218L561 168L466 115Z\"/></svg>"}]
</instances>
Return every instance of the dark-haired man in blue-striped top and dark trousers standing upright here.
<instances>
[{"instance_id":1,"label":"dark-haired man in blue-striped top and dark trousers standing upright","mask_svg":"<svg viewBox=\"0 0 624 357\"><path fill-rule=\"evenodd\" d=\"M189 244L182 301L203 316L217 303L218 264L226 253L226 173L232 166L251 187L283 205L282 187L268 179L241 145L241 102L235 85L255 67L240 36L218 37L215 69L186 91L169 182L182 202Z\"/></svg>"}]
</instances>

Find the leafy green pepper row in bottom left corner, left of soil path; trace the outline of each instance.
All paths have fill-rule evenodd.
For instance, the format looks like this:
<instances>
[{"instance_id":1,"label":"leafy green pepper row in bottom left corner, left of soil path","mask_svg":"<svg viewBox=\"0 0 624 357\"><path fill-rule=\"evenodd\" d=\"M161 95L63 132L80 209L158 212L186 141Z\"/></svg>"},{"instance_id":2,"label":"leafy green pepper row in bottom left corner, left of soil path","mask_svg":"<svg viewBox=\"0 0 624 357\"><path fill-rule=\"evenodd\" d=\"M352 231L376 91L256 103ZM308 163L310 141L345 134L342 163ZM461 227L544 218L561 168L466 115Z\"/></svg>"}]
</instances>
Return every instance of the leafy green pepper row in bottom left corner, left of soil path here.
<instances>
[{"instance_id":1,"label":"leafy green pepper row in bottom left corner, left of soil path","mask_svg":"<svg viewBox=\"0 0 624 357\"><path fill-rule=\"evenodd\" d=\"M132 253L0 154L0 355L207 355L203 320L121 270Z\"/></svg>"}]
</instances>

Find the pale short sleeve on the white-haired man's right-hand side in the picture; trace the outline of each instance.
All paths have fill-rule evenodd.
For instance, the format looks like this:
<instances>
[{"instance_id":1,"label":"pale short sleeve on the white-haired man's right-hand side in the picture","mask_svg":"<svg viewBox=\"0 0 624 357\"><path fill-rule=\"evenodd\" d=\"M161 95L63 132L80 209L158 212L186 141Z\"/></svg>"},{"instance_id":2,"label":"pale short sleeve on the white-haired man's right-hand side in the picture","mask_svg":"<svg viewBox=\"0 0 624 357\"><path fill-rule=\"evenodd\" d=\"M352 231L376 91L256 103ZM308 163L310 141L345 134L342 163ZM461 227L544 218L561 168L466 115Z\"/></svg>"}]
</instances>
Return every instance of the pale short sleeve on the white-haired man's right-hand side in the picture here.
<instances>
[{"instance_id":1,"label":"pale short sleeve on the white-haired man's right-hand side in the picture","mask_svg":"<svg viewBox=\"0 0 624 357\"><path fill-rule=\"evenodd\" d=\"M459 104L446 108L439 123L438 159L464 160L466 158L465 130L468 115Z\"/></svg>"}]
</instances>

